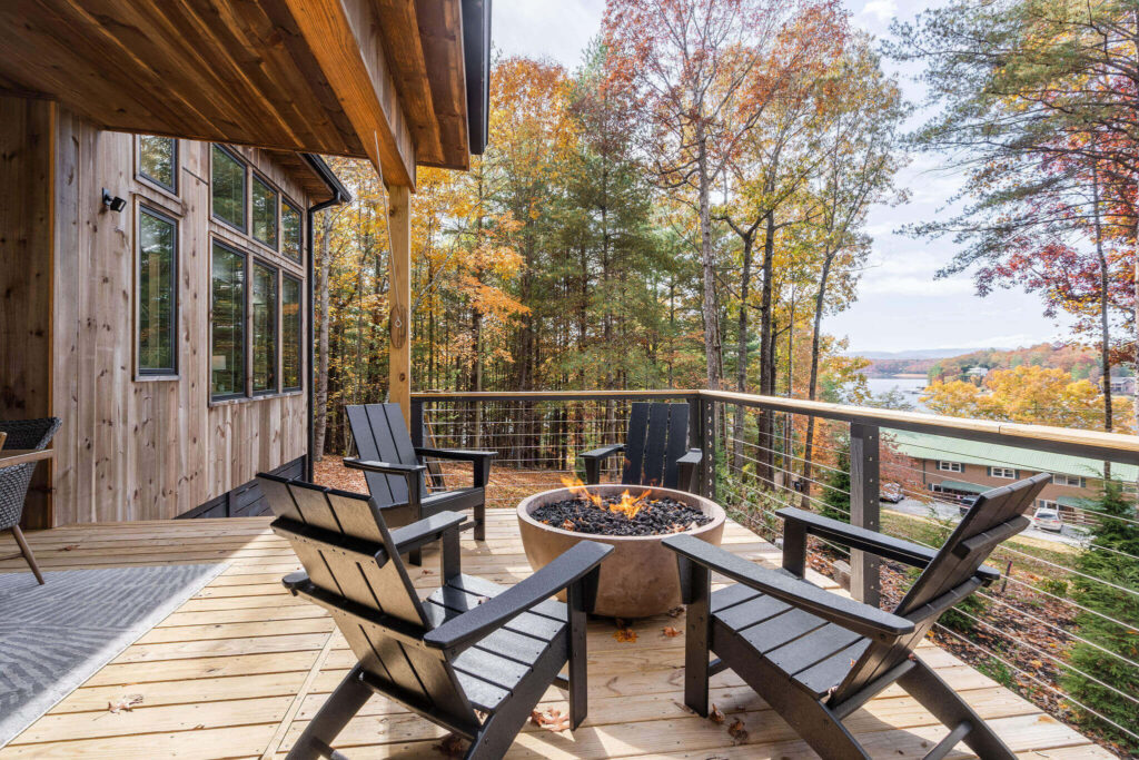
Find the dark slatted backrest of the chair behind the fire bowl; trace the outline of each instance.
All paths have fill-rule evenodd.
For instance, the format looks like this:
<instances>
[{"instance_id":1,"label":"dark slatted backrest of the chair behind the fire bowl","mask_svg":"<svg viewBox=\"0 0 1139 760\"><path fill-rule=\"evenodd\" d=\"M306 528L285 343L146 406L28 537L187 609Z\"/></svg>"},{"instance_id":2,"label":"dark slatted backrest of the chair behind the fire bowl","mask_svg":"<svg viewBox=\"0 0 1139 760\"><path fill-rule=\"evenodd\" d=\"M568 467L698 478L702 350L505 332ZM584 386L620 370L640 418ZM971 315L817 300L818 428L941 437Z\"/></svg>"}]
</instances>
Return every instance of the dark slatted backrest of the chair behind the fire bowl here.
<instances>
[{"instance_id":1,"label":"dark slatted backrest of the chair behind the fire bowl","mask_svg":"<svg viewBox=\"0 0 1139 760\"><path fill-rule=\"evenodd\" d=\"M677 460L688 451L688 404L637 401L629 412L629 436L621 482L677 488Z\"/></svg>"}]
</instances>

